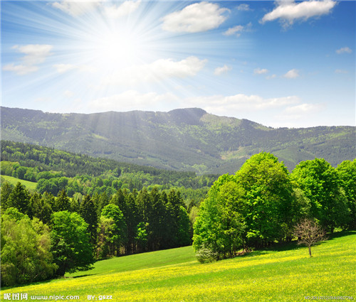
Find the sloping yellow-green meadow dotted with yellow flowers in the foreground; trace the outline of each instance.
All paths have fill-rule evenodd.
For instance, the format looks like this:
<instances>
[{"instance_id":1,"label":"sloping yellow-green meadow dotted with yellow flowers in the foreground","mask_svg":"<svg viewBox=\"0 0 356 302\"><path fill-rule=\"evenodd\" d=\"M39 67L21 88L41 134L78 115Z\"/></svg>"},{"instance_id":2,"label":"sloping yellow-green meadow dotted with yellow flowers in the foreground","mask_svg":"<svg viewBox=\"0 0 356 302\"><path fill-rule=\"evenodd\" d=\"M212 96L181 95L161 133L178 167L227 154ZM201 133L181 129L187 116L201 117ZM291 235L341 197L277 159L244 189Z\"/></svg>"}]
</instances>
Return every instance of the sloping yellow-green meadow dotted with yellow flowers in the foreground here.
<instances>
[{"instance_id":1,"label":"sloping yellow-green meadow dotted with yellow flowers in the foreground","mask_svg":"<svg viewBox=\"0 0 356 302\"><path fill-rule=\"evenodd\" d=\"M1 298L4 293L28 293L28 301L37 301L31 300L33 295L142 302L303 301L305 296L355 299L356 232L337 233L312 247L312 252L310 258L308 248L290 244L199 264L192 247L182 247L98 261L93 270L65 279L6 288Z\"/></svg>"}]
</instances>

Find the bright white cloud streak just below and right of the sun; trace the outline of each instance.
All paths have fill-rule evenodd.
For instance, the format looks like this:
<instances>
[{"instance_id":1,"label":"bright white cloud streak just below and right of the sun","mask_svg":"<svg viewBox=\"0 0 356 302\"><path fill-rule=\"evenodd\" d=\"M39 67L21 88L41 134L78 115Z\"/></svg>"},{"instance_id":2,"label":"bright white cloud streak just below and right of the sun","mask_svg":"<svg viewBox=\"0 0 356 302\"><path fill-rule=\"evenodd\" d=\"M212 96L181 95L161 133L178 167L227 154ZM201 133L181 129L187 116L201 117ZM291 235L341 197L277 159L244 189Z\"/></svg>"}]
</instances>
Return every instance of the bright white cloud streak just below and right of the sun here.
<instances>
[{"instance_id":1,"label":"bright white cloud streak just below and right of the sun","mask_svg":"<svg viewBox=\"0 0 356 302\"><path fill-rule=\"evenodd\" d=\"M178 77L192 77L204 68L207 60L200 60L191 56L184 60L159 59L145 65L135 65L116 72L104 80L104 85L124 84L133 85L137 82L159 82L161 80Z\"/></svg>"}]
</instances>

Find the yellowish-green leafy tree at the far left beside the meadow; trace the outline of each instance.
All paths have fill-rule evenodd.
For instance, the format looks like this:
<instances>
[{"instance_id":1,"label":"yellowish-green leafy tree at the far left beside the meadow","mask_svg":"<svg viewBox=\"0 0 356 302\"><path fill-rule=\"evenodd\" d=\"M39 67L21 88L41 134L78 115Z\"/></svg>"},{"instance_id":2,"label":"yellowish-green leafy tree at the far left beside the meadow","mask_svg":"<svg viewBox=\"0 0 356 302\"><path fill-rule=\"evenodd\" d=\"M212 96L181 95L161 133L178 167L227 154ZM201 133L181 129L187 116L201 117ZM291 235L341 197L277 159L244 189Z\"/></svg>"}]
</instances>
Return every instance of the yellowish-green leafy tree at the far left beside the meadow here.
<instances>
[{"instance_id":1,"label":"yellowish-green leafy tree at the far left beside the meadow","mask_svg":"<svg viewBox=\"0 0 356 302\"><path fill-rule=\"evenodd\" d=\"M1 285L13 286L53 276L49 229L10 207L1 215Z\"/></svg>"}]
</instances>

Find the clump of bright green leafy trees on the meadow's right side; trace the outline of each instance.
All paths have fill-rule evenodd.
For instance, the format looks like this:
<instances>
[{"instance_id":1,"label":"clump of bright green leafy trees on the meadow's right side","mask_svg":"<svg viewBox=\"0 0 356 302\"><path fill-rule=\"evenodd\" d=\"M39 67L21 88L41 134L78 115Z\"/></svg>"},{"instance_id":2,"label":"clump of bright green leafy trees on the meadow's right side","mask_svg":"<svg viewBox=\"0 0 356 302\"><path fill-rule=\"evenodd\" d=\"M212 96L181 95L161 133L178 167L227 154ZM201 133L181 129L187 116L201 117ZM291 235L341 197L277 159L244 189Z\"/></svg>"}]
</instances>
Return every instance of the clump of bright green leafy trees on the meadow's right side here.
<instances>
[{"instance_id":1,"label":"clump of bright green leafy trees on the meadow's right side","mask_svg":"<svg viewBox=\"0 0 356 302\"><path fill-rule=\"evenodd\" d=\"M308 218L327 232L356 227L356 159L337 168L323 158L292 173L271 153L251 156L234 176L221 176L201 203L193 246L199 261L293 238Z\"/></svg>"}]
</instances>

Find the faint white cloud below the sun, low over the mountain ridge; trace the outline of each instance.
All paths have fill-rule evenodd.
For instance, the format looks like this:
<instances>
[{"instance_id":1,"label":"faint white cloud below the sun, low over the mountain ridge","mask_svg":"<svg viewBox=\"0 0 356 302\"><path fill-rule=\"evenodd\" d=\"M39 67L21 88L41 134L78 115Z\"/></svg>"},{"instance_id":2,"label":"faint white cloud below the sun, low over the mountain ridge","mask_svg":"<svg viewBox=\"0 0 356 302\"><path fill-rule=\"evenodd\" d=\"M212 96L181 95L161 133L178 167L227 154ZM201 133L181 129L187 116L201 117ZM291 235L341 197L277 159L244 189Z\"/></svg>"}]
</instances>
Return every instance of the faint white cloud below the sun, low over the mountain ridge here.
<instances>
[{"instance_id":1,"label":"faint white cloud below the sun, low over the mountain ridge","mask_svg":"<svg viewBox=\"0 0 356 302\"><path fill-rule=\"evenodd\" d=\"M100 97L89 103L89 107L93 111L127 111L127 110L152 110L152 107L157 105L167 104L169 102L177 102L178 98L172 93L159 95L156 92L140 93L135 90L127 90L121 94L112 95L110 97Z\"/></svg>"}]
</instances>

